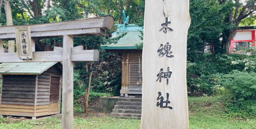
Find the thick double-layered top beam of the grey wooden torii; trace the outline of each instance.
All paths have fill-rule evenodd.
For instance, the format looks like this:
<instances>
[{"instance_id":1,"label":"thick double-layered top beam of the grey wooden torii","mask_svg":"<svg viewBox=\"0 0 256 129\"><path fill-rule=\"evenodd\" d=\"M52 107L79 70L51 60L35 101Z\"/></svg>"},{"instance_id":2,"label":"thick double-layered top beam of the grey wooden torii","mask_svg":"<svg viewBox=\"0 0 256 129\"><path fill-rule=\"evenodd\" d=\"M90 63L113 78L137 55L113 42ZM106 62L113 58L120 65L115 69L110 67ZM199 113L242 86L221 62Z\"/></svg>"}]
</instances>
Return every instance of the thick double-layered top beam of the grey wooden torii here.
<instances>
[{"instance_id":1,"label":"thick double-layered top beam of the grey wooden torii","mask_svg":"<svg viewBox=\"0 0 256 129\"><path fill-rule=\"evenodd\" d=\"M54 23L42 23L31 25L11 25L0 27L0 40L15 40L15 27L30 26L31 38L62 38L63 35L103 36L105 30L111 30L114 24L111 15L88 19L77 19Z\"/></svg>"}]
</instances>

